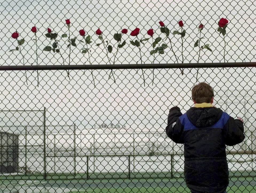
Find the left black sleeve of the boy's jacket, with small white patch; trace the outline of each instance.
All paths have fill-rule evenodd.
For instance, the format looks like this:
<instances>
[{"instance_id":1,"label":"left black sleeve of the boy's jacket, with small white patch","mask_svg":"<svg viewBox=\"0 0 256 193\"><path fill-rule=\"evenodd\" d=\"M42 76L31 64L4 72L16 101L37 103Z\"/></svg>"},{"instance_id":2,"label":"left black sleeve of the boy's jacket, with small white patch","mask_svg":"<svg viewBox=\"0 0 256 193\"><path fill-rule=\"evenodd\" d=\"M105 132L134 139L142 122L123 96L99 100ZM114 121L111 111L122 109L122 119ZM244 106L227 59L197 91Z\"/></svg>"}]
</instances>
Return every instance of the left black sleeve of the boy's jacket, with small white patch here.
<instances>
[{"instance_id":1,"label":"left black sleeve of the boy's jacket, with small white patch","mask_svg":"<svg viewBox=\"0 0 256 193\"><path fill-rule=\"evenodd\" d=\"M177 106L172 107L168 115L167 127L165 129L167 136L175 143L184 143L182 135L184 127L180 122L180 116L182 116L180 108Z\"/></svg>"}]
</instances>

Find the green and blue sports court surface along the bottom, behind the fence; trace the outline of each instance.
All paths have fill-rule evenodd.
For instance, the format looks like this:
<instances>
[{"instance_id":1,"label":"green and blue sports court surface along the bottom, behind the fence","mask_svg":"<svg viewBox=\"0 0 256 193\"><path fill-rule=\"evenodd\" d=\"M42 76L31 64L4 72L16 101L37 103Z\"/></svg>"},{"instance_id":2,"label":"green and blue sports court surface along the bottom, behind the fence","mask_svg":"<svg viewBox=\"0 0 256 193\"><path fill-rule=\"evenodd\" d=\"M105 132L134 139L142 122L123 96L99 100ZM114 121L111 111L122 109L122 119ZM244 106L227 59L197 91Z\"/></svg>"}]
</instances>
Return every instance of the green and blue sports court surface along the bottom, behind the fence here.
<instances>
[{"instance_id":1,"label":"green and blue sports court surface along the bottom, behind the fence","mask_svg":"<svg viewBox=\"0 0 256 193\"><path fill-rule=\"evenodd\" d=\"M32 176L31 176L32 177ZM5 179L0 180L3 193L190 193L183 178L156 179ZM256 193L254 177L233 177L227 187L228 193Z\"/></svg>"}]
</instances>

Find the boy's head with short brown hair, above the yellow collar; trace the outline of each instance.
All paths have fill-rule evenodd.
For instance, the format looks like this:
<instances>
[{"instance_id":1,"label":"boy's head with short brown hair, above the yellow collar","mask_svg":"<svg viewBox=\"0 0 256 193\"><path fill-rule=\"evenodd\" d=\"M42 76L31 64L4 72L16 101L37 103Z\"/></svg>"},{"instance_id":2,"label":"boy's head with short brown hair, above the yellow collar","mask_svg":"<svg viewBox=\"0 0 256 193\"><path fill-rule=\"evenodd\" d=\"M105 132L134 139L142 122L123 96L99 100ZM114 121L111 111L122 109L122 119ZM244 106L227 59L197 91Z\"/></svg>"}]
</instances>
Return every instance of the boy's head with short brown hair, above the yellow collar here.
<instances>
[{"instance_id":1,"label":"boy's head with short brown hair, above the yellow collar","mask_svg":"<svg viewBox=\"0 0 256 193\"><path fill-rule=\"evenodd\" d=\"M213 96L213 89L207 83L199 83L192 88L192 100L194 103L212 103Z\"/></svg>"}]
</instances>

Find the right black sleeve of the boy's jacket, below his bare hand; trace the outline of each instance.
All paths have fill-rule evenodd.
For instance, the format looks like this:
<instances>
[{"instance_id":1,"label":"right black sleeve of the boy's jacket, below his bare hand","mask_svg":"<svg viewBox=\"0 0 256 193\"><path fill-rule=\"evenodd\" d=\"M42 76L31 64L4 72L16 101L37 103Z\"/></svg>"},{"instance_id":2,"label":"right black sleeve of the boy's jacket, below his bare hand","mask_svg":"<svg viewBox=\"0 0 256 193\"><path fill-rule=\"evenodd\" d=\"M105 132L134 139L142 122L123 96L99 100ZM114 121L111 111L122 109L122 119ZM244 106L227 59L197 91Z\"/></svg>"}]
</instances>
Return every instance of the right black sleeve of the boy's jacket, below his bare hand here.
<instances>
[{"instance_id":1,"label":"right black sleeve of the boy's jacket, below his bare hand","mask_svg":"<svg viewBox=\"0 0 256 193\"><path fill-rule=\"evenodd\" d=\"M245 139L243 122L239 119L229 117L223 127L223 141L225 145L233 146Z\"/></svg>"}]
</instances>

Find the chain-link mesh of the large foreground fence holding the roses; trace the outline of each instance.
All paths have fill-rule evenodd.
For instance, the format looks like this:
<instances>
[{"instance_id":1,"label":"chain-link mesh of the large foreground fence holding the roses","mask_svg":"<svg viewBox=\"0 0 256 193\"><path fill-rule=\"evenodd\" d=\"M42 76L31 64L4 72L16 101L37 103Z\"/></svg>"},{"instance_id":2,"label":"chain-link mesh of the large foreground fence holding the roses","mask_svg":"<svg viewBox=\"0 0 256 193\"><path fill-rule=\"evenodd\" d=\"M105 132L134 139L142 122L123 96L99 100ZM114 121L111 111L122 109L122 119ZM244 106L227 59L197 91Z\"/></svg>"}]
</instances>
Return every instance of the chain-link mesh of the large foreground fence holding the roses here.
<instances>
[{"instance_id":1,"label":"chain-link mesh of the large foreground fence holding the roses","mask_svg":"<svg viewBox=\"0 0 256 193\"><path fill-rule=\"evenodd\" d=\"M171 31L179 63L255 62L255 7L249 0L2 1L0 63L176 63L159 21ZM225 42L217 31L222 17L229 21ZM69 28L65 19L70 19ZM179 20L186 30L183 44L180 36L172 35L180 31ZM204 28L199 35L200 23ZM33 26L38 29L36 36ZM154 31L153 40L140 44L142 56L129 43L136 39L129 35L136 27L139 40L150 38L147 30ZM47 28L58 34L56 39L45 36ZM98 28L105 43L112 45L111 53L95 34ZM123 28L128 29L121 37L126 44L117 50L113 35ZM79 35L81 29L92 41L86 53L82 53L87 46ZM15 31L24 43L11 38ZM76 45L68 46L74 37ZM157 37L161 37L159 45L168 47L164 54L150 55ZM212 52L199 54L194 47L199 37ZM54 48L54 43L58 44L54 52L43 51L46 46ZM68 71L70 79L65 70L45 70L38 71L38 87L36 71L1 71L0 191L190 192L184 181L183 145L167 138L164 129L169 109L178 105L185 113L193 105L191 88L205 81L214 89L216 107L245 120L245 140L226 148L227 192L256 192L256 70L209 66L199 68L198 75L197 70L187 68L181 75L180 69L143 69L143 74L115 69L111 79L104 69Z\"/></svg>"}]
</instances>

